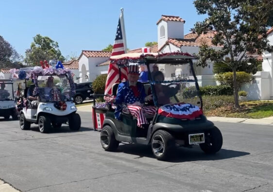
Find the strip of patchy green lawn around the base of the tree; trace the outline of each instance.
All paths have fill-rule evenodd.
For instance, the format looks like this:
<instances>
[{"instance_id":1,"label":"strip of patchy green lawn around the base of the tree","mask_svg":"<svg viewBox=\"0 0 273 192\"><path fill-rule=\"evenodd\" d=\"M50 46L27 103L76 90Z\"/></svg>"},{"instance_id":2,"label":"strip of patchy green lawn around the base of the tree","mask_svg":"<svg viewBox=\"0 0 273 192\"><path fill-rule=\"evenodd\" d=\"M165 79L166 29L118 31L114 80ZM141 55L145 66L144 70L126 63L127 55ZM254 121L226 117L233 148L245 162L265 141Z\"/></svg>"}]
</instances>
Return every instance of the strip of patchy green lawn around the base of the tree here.
<instances>
[{"instance_id":1,"label":"strip of patchy green lawn around the base of the tree","mask_svg":"<svg viewBox=\"0 0 273 192\"><path fill-rule=\"evenodd\" d=\"M233 104L229 104L215 109L207 109L204 112L206 116L262 119L273 116L273 101L240 102L239 109L235 109Z\"/></svg>"}]
</instances>

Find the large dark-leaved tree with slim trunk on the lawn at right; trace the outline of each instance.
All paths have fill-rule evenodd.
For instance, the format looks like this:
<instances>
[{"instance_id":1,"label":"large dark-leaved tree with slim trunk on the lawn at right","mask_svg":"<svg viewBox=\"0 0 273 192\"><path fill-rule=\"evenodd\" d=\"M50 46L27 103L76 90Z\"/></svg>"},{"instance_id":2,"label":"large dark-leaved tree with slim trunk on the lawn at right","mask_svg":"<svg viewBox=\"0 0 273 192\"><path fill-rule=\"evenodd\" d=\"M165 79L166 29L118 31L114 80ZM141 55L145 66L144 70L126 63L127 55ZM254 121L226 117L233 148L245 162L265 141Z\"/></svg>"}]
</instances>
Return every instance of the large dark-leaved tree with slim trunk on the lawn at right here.
<instances>
[{"instance_id":1,"label":"large dark-leaved tree with slim trunk on the lawn at right","mask_svg":"<svg viewBox=\"0 0 273 192\"><path fill-rule=\"evenodd\" d=\"M238 108L237 69L256 62L250 55L273 51L266 35L272 0L195 0L194 5L198 14L208 16L195 24L194 31L201 35L213 30L212 44L218 46L213 49L202 45L197 63L205 67L210 60L228 65L233 72L234 100Z\"/></svg>"}]
</instances>

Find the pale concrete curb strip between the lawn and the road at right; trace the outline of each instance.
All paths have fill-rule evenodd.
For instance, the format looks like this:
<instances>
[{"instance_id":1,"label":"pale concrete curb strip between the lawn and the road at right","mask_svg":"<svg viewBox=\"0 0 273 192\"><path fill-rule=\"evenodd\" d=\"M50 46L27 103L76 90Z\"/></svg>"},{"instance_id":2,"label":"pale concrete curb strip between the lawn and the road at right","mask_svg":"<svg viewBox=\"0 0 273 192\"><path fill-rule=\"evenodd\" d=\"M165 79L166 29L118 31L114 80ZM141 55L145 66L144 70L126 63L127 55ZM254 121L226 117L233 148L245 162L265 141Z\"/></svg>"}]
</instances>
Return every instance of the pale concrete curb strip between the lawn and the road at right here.
<instances>
[{"instance_id":1,"label":"pale concrete curb strip between the lawn and the road at right","mask_svg":"<svg viewBox=\"0 0 273 192\"><path fill-rule=\"evenodd\" d=\"M241 122L248 124L273 125L273 117L263 119L230 118L230 117L207 117L212 122Z\"/></svg>"}]
</instances>

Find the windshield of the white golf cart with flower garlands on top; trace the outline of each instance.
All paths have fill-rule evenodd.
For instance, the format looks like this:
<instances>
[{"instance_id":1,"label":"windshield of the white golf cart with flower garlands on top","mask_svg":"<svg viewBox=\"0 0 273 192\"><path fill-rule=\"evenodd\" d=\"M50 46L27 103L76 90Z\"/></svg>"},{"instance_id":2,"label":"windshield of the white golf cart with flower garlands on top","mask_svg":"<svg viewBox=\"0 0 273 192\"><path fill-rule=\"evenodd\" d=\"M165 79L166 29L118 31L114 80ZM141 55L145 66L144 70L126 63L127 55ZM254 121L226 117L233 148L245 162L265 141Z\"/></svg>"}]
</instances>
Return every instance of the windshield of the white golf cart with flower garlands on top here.
<instances>
[{"instance_id":1,"label":"windshield of the white golf cart with flower garlands on top","mask_svg":"<svg viewBox=\"0 0 273 192\"><path fill-rule=\"evenodd\" d=\"M37 85L42 102L73 100L73 92L67 75L37 76Z\"/></svg>"}]
</instances>

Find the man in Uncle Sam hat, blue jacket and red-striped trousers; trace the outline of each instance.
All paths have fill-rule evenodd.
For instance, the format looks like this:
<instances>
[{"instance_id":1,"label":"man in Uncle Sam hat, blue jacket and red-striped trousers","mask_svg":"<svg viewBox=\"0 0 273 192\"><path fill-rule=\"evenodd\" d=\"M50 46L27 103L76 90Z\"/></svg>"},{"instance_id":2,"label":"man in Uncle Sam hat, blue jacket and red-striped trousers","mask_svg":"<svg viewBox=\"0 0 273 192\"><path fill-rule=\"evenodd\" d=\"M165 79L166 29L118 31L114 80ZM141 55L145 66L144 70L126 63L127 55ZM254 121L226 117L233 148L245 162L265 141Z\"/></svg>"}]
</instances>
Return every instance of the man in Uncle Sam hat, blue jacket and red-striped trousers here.
<instances>
[{"instance_id":1,"label":"man in Uncle Sam hat, blue jacket and red-striped trousers","mask_svg":"<svg viewBox=\"0 0 273 192\"><path fill-rule=\"evenodd\" d=\"M128 69L128 81L120 83L118 87L117 97L105 97L106 102L113 102L118 105L115 116L120 119L122 107L126 104L130 113L137 118L137 126L144 128L148 122L143 113L154 115L156 109L154 106L144 106L145 101L152 100L152 95L146 96L142 83L138 82L139 68L137 65L130 65Z\"/></svg>"}]
</instances>

